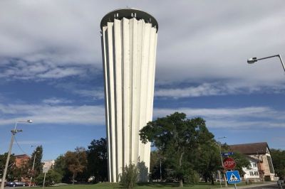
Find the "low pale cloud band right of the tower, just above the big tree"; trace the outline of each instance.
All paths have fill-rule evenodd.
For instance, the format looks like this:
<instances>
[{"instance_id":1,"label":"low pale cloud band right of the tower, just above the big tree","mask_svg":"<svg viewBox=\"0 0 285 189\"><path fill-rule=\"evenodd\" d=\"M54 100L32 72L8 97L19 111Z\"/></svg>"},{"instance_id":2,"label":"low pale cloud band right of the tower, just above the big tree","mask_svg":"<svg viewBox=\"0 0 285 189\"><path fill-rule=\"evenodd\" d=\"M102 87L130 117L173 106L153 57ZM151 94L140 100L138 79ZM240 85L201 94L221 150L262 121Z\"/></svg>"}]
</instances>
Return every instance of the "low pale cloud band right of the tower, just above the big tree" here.
<instances>
[{"instance_id":1,"label":"low pale cloud band right of the tower, just above the big tree","mask_svg":"<svg viewBox=\"0 0 285 189\"><path fill-rule=\"evenodd\" d=\"M248 129L285 127L284 112L269 107L239 108L156 108L154 117L165 117L173 112L184 112L187 117L203 117L209 128ZM281 115L281 116L280 116Z\"/></svg>"}]
</instances>

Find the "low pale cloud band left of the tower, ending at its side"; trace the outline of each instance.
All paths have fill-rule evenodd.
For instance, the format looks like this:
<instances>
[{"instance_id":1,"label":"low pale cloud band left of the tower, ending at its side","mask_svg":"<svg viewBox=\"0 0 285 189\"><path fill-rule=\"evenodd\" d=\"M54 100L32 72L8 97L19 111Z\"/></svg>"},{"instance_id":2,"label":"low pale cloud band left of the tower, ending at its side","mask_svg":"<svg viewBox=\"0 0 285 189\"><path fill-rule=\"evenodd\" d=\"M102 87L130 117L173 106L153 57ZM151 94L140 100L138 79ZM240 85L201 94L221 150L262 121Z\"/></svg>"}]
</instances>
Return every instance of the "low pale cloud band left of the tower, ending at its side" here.
<instances>
[{"instance_id":1,"label":"low pale cloud band left of the tower, ending at its side","mask_svg":"<svg viewBox=\"0 0 285 189\"><path fill-rule=\"evenodd\" d=\"M48 104L0 104L0 124L11 124L15 120L33 120L33 124L105 124L103 106L62 106Z\"/></svg>"}]
</instances>

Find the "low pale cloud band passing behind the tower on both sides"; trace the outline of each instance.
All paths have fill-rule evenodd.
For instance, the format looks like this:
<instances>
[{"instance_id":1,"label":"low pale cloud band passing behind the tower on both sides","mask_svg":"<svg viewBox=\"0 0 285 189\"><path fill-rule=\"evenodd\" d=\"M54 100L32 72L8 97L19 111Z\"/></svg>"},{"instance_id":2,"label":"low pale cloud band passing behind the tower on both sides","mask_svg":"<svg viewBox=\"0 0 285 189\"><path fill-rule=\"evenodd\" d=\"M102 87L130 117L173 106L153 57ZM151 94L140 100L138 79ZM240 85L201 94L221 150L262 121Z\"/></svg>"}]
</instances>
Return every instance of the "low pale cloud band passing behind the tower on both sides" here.
<instances>
[{"instance_id":1,"label":"low pale cloud band passing behind the tower on both sides","mask_svg":"<svg viewBox=\"0 0 285 189\"><path fill-rule=\"evenodd\" d=\"M32 119L33 124L104 125L103 106L63 106L59 104L0 104L0 125L14 124L15 120ZM177 108L154 109L154 119L173 112L184 112L189 118L203 117L209 128L284 128L284 112L269 107L239 108Z\"/></svg>"}]
</instances>

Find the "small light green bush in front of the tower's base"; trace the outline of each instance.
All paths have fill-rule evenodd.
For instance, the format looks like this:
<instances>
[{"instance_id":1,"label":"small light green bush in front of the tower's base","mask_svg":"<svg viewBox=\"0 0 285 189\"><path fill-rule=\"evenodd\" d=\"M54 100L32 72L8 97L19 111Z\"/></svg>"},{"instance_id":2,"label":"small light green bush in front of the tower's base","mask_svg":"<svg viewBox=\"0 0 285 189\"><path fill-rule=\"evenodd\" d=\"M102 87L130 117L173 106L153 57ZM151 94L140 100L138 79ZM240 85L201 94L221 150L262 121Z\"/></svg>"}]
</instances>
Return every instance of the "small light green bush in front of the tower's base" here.
<instances>
[{"instance_id":1,"label":"small light green bush in front of the tower's base","mask_svg":"<svg viewBox=\"0 0 285 189\"><path fill-rule=\"evenodd\" d=\"M134 188L135 183L138 181L138 174L138 168L134 164L125 166L122 175L120 175L120 183L123 185L123 188Z\"/></svg>"}]
</instances>

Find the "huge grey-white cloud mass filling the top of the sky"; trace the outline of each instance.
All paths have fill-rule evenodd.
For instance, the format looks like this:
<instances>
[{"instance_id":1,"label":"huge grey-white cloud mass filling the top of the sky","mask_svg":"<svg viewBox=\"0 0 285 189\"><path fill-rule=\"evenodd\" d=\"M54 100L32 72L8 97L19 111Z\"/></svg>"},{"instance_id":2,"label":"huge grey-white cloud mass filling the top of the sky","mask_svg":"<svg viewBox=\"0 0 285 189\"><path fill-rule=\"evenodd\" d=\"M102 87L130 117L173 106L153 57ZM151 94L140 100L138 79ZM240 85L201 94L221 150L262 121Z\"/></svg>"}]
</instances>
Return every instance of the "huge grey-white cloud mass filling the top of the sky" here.
<instances>
[{"instance_id":1,"label":"huge grey-white cloud mass filling the top of the sky","mask_svg":"<svg viewBox=\"0 0 285 189\"><path fill-rule=\"evenodd\" d=\"M31 72L13 66L1 68L0 77L46 80L84 75L88 68L78 70L81 65L101 69L100 19L126 4L157 18L158 83L238 80L283 85L279 60L258 65L247 65L246 60L282 53L285 4L254 0L1 1L1 63L24 60Z\"/></svg>"}]
</instances>

